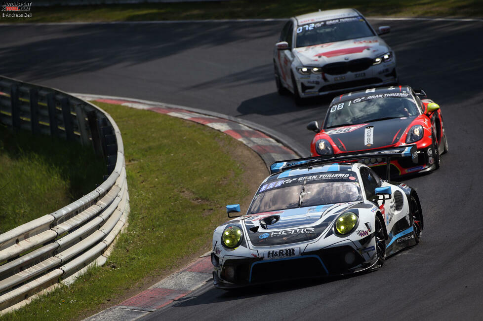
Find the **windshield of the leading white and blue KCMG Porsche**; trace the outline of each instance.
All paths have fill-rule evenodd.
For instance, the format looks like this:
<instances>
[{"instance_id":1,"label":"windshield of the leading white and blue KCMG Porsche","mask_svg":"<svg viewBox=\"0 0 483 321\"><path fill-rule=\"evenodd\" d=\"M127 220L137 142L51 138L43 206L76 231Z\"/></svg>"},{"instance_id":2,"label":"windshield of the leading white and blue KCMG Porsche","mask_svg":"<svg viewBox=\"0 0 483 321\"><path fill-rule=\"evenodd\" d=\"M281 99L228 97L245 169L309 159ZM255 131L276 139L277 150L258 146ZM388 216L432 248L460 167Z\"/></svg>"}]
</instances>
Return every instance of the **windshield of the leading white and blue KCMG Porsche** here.
<instances>
[{"instance_id":1,"label":"windshield of the leading white and blue KCMG Porsche","mask_svg":"<svg viewBox=\"0 0 483 321\"><path fill-rule=\"evenodd\" d=\"M247 214L362 200L352 171L282 178L260 186Z\"/></svg>"}]
</instances>

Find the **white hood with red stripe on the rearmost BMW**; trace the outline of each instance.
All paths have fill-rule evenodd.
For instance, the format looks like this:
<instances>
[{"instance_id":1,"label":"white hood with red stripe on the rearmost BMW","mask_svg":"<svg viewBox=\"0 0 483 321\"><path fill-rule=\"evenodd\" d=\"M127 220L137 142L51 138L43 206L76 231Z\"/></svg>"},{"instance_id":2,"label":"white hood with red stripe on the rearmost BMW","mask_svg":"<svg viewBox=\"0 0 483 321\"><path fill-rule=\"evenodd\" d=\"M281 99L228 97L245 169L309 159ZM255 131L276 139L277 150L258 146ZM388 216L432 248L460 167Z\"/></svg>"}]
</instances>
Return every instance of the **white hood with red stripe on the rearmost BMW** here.
<instances>
[{"instance_id":1,"label":"white hood with red stripe on the rearmost BMW","mask_svg":"<svg viewBox=\"0 0 483 321\"><path fill-rule=\"evenodd\" d=\"M378 36L371 36L294 48L292 52L302 65L322 67L326 64L354 59L372 59L388 51L390 48L384 40Z\"/></svg>"}]
</instances>

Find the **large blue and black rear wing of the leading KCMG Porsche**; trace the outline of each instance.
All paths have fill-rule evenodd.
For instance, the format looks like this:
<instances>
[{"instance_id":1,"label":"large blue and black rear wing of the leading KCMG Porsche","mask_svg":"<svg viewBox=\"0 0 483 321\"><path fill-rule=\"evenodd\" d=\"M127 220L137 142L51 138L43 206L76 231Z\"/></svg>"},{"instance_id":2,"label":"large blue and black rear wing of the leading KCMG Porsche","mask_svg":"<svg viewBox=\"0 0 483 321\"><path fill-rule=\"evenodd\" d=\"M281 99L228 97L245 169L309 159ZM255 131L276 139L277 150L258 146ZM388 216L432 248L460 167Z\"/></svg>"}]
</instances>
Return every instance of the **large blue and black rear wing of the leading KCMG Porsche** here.
<instances>
[{"instance_id":1,"label":"large blue and black rear wing of the leading KCMG Porsche","mask_svg":"<svg viewBox=\"0 0 483 321\"><path fill-rule=\"evenodd\" d=\"M377 160L378 158L381 158L386 160L386 166L387 166L386 179L389 180L391 178L391 172L390 172L391 158L399 158L399 157L411 157L413 163L417 163L418 150L416 148L416 145L412 144L412 145L405 145L405 146L399 146L399 147L370 149L370 150L364 150L359 152L349 152L349 153L340 153L340 154L333 154L333 155L326 155L326 156L315 156L315 157L284 160L270 165L270 174L279 173L293 168L310 167L311 165L341 163L344 161L353 161L353 160L362 160L362 159L371 159L371 158L375 158ZM372 163L375 163L375 161Z\"/></svg>"}]
</instances>

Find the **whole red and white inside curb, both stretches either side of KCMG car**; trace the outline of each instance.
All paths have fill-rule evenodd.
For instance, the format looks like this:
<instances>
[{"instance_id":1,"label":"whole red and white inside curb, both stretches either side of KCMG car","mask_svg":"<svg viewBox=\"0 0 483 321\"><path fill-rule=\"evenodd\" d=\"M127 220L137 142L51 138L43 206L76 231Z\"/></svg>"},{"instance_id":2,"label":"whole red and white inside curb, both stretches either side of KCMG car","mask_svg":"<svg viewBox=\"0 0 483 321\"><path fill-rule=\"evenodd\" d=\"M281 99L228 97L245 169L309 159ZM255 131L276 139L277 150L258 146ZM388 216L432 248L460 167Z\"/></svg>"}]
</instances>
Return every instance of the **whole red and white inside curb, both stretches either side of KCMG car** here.
<instances>
[{"instance_id":1,"label":"whole red and white inside curb, both stretches either side of KCMG car","mask_svg":"<svg viewBox=\"0 0 483 321\"><path fill-rule=\"evenodd\" d=\"M152 110L209 126L230 135L253 149L262 157L267 166L270 166L275 161L300 157L292 149L279 143L274 138L269 137L259 130L243 125L237 122L236 119L228 119L230 118L228 116L223 117L223 115L219 115L215 117L203 114L202 110L199 109L130 98L89 94L73 95L88 101ZM195 112L193 110L201 112ZM159 283L85 320L135 320L182 298L212 279L213 266L211 264L210 253L211 251L206 252L195 262L161 280Z\"/></svg>"}]
</instances>

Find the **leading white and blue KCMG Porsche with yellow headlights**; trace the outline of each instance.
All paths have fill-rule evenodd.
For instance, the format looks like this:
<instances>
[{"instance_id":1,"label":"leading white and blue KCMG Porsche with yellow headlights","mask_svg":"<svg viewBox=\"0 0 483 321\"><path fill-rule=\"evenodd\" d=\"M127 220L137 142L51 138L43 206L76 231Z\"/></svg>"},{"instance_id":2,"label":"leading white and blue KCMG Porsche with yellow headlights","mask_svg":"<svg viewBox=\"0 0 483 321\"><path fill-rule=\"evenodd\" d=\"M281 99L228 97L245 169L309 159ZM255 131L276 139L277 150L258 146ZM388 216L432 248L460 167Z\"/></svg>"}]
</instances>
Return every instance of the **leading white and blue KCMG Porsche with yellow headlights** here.
<instances>
[{"instance_id":1,"label":"leading white and blue KCMG Porsche with yellow headlights","mask_svg":"<svg viewBox=\"0 0 483 321\"><path fill-rule=\"evenodd\" d=\"M416 245L423 216L415 190L382 180L361 163L333 163L417 159L416 151L408 145L273 164L247 213L213 233L214 285L351 274L378 268L386 256ZM239 204L227 206L229 217L237 212Z\"/></svg>"}]
</instances>

